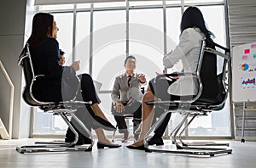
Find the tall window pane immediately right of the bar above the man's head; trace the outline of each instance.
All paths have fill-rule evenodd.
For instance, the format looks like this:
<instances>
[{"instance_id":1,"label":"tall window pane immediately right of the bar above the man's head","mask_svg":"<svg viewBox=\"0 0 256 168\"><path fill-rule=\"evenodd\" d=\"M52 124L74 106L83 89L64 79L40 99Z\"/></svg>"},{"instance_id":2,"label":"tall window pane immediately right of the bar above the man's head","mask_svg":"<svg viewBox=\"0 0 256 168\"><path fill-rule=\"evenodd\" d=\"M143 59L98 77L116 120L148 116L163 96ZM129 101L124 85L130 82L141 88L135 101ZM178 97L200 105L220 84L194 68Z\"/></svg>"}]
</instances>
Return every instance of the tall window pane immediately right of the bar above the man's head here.
<instances>
[{"instance_id":1,"label":"tall window pane immediately right of the bar above the man's head","mask_svg":"<svg viewBox=\"0 0 256 168\"><path fill-rule=\"evenodd\" d=\"M163 10L130 10L129 54L137 57L137 71L148 80L162 72L164 55Z\"/></svg>"}]
</instances>

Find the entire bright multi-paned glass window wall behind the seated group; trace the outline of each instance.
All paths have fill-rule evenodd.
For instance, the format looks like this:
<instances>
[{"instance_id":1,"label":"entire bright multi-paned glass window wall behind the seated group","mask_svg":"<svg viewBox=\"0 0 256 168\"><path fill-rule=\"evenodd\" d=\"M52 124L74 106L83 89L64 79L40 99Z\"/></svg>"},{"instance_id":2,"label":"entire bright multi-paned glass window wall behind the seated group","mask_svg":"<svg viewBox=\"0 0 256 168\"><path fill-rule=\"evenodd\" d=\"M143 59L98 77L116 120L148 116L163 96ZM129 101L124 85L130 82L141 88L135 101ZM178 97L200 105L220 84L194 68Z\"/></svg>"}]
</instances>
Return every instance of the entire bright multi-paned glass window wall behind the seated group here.
<instances>
[{"instance_id":1,"label":"entire bright multi-paned glass window wall behind the seated group","mask_svg":"<svg viewBox=\"0 0 256 168\"><path fill-rule=\"evenodd\" d=\"M182 1L166 1L166 52L177 46L180 35ZM222 0L211 0L207 3L222 3ZM205 3L203 0L185 0L185 4ZM119 3L94 3L95 8L125 7L125 2ZM162 1L130 2L130 6L161 5ZM93 13L93 45L90 46L90 12L78 12L76 29L73 30L73 13L68 10L73 4L40 6L41 11L58 11L55 20L60 29L58 41L60 48L66 52L69 65L74 60L81 61L79 73L89 72L90 48L92 48L92 77L102 83L101 91L110 91L113 87L114 77L125 72L124 60L126 52L136 56L137 72L146 75L148 81L155 76L155 72L163 70L162 58L164 51L164 23L162 8L130 9L129 11L129 43L126 44L125 10L104 10ZM90 3L78 4L77 8L90 8ZM209 30L216 36L215 42L225 46L225 20L223 5L198 6L203 13ZM67 11L65 11L67 9ZM64 11L64 12L63 12ZM75 35L75 38L73 37ZM75 48L73 48L75 39ZM129 47L126 51L126 47ZM74 53L74 55L73 55ZM177 70L178 70L177 66ZM101 107L108 119L114 123L110 113L110 94L99 94L102 100ZM64 134L67 126L59 117L45 114L40 111L34 115L34 134ZM169 132L173 123L170 120ZM189 126L189 136L230 136L230 104L226 104L221 111L214 111L207 117L198 117ZM211 132L211 135L209 134ZM112 134L113 132L107 132Z\"/></svg>"}]
</instances>

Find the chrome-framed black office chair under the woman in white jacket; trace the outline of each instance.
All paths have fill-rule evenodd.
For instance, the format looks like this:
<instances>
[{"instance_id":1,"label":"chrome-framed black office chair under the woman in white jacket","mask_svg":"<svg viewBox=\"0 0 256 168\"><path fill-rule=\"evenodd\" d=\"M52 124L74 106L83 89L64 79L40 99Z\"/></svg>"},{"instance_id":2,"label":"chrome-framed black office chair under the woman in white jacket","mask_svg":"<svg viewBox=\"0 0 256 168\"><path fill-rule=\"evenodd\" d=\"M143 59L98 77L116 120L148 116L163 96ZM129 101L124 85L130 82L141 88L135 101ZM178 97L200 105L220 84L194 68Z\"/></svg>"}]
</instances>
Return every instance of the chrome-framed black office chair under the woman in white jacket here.
<instances>
[{"instance_id":1,"label":"chrome-framed black office chair under the woman in white jacket","mask_svg":"<svg viewBox=\"0 0 256 168\"><path fill-rule=\"evenodd\" d=\"M219 48L217 51L216 48ZM222 72L217 75L217 70L215 64L217 62L217 56L223 58L223 68ZM213 58L213 59L211 59ZM213 61L212 61L213 60ZM180 100L176 101L161 101L160 99L154 101L148 101L146 104L154 105L159 107L160 109L164 109L162 115L160 115L159 120L154 123L154 125L150 128L147 134L144 137L144 147L146 152L164 152L164 153L172 153L172 154L189 154L189 155L209 155L214 156L215 154L231 154L232 149L229 148L201 148L201 147L190 147L193 144L183 143L181 135L188 128L190 123L197 116L205 116L208 113L214 110L220 110L224 108L224 104L228 95L228 84L227 81L228 73L230 72L230 67L227 69L227 63L230 61L230 49L224 48L218 45L215 42L209 40L203 40L201 42L201 53L199 56L199 61L197 65L197 69L194 73L174 73L174 74L165 74L156 77L156 81L160 78L172 78L172 76L193 76L198 81L199 91L197 95L194 97L189 96L183 97ZM230 65L230 64L229 64ZM214 68L215 66L215 68ZM214 71L215 70L215 71ZM213 87L218 87L218 98L210 98L207 96L207 92L211 90L212 83L216 81L216 85ZM212 83L211 83L212 82ZM214 85L214 84L213 84ZM183 120L174 128L170 137L172 137L172 143L175 144L175 150L163 150L163 149L152 149L148 147L148 141L150 140L149 136L154 130L160 126L162 120L166 118L166 115L170 113L180 113L183 115ZM191 116L192 118L185 124L186 120ZM180 132L181 128L183 130ZM180 143L177 143L176 137L178 132ZM172 135L173 134L173 135ZM229 146L227 143L218 144L218 143L205 143L201 145L225 145Z\"/></svg>"}]
</instances>

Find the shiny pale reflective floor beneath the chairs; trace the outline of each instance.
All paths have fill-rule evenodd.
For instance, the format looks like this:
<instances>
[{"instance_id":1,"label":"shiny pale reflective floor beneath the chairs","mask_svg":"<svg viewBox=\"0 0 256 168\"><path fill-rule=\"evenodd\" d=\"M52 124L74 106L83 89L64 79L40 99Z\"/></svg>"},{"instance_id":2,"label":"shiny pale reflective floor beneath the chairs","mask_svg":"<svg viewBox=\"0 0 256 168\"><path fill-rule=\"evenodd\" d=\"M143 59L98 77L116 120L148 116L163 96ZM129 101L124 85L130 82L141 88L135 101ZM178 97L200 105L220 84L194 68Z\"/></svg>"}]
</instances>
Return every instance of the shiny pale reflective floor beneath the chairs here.
<instances>
[{"instance_id":1,"label":"shiny pale reflective floor beneath the chairs","mask_svg":"<svg viewBox=\"0 0 256 168\"><path fill-rule=\"evenodd\" d=\"M254 168L256 165L256 142L241 143L240 141L221 141L230 143L232 154L222 154L213 157L195 157L181 154L145 153L142 150L121 148L97 149L94 145L91 152L68 151L54 153L20 154L15 150L17 145L32 144L35 139L0 140L1 168L66 168L66 167L224 167L224 168ZM37 139L38 141L38 139ZM170 141L158 148L173 148Z\"/></svg>"}]
</instances>

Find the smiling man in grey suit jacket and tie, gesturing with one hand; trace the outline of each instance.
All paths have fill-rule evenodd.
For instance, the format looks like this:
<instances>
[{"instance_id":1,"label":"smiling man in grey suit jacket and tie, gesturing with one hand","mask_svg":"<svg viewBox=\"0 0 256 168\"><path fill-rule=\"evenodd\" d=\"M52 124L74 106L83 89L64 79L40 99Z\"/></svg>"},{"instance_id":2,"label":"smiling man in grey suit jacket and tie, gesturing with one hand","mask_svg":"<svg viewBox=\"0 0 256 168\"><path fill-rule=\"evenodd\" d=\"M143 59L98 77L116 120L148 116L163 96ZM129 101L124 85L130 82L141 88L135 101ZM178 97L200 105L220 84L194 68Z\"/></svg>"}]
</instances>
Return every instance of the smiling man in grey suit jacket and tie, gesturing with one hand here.
<instances>
[{"instance_id":1,"label":"smiling man in grey suit jacket and tie, gesturing with one hand","mask_svg":"<svg viewBox=\"0 0 256 168\"><path fill-rule=\"evenodd\" d=\"M139 122L136 119L142 118L142 96L141 87L147 84L143 74L134 72L136 69L136 58L132 55L125 59L125 73L117 76L113 84L111 98L113 101L113 115L119 128L119 133L124 133L122 142L126 143L129 138L129 132L125 123L124 115L133 114L134 131ZM136 136L135 136L136 137Z\"/></svg>"}]
</instances>

